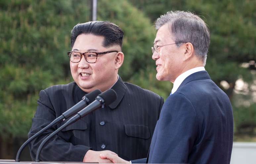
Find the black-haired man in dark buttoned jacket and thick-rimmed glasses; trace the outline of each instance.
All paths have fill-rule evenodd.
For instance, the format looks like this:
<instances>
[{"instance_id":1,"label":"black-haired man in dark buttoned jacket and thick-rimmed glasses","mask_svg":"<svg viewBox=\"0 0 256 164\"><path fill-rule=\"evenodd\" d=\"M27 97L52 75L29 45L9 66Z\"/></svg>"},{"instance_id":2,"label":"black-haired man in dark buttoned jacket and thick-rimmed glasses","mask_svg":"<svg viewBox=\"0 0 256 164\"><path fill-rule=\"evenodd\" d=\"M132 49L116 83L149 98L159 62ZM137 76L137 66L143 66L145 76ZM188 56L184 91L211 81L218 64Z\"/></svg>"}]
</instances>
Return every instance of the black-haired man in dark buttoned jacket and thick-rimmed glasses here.
<instances>
[{"instance_id":1,"label":"black-haired man in dark buttoned jacket and thick-rimmed glasses","mask_svg":"<svg viewBox=\"0 0 256 164\"><path fill-rule=\"evenodd\" d=\"M68 52L74 82L56 85L39 93L37 111L28 136L44 128L86 94L112 88L117 99L67 126L42 149L43 161L109 163L99 154L111 150L124 159L147 156L163 98L136 85L123 82L118 69L123 64L123 31L108 21L77 24L71 32ZM34 159L49 129L29 145Z\"/></svg>"}]
</instances>

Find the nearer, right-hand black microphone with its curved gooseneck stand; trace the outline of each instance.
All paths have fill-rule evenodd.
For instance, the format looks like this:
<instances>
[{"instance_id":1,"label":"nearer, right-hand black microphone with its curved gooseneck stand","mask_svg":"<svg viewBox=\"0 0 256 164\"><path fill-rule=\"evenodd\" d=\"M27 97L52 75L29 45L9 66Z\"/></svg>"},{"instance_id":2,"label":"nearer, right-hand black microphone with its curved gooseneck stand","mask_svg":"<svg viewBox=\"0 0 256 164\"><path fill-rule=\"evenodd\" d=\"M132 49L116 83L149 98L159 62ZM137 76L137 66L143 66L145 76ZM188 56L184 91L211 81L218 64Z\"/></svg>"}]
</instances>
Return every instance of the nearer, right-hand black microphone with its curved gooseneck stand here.
<instances>
[{"instance_id":1,"label":"nearer, right-hand black microphone with its curved gooseneck stand","mask_svg":"<svg viewBox=\"0 0 256 164\"><path fill-rule=\"evenodd\" d=\"M108 89L107 91L104 91L102 94L96 97L96 99L87 107L79 111L75 116L71 117L66 123L64 123L61 127L59 127L57 130L55 130L52 134L50 134L48 137L46 137L40 146L38 147L38 150L36 152L36 158L35 162L39 162L39 156L41 153L41 150L44 146L44 144L55 134L57 134L59 131L61 131L63 128L66 126L76 122L77 120L81 119L82 117L88 115L90 112L99 109L99 108L104 108L105 106L108 106L112 102L116 100L116 93L113 89Z\"/></svg>"}]
</instances>

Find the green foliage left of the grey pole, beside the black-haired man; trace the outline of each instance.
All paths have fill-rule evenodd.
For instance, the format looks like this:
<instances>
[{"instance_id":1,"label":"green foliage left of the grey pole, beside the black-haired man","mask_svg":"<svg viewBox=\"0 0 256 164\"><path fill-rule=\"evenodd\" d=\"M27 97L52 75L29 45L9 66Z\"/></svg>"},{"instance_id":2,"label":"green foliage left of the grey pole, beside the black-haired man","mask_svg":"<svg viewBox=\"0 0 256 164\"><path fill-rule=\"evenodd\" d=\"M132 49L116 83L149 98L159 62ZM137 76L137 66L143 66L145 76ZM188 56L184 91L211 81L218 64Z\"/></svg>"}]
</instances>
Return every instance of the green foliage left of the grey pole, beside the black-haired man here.
<instances>
[{"instance_id":1,"label":"green foliage left of the grey pole, beside the black-haired man","mask_svg":"<svg viewBox=\"0 0 256 164\"><path fill-rule=\"evenodd\" d=\"M26 136L41 89L70 81L72 27L89 20L86 1L0 1L0 131Z\"/></svg>"}]
</instances>

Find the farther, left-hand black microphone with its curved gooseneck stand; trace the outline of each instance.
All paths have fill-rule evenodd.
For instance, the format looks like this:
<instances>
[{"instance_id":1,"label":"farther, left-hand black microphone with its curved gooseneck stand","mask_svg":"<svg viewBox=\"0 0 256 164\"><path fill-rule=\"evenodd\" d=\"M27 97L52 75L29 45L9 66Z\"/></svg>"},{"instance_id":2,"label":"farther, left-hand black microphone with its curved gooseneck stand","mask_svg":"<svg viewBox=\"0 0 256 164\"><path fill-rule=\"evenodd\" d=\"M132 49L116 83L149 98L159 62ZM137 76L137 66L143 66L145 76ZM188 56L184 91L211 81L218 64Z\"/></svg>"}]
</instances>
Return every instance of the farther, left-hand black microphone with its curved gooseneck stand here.
<instances>
[{"instance_id":1,"label":"farther, left-hand black microphone with its curved gooseneck stand","mask_svg":"<svg viewBox=\"0 0 256 164\"><path fill-rule=\"evenodd\" d=\"M80 111L81 109L83 109L84 107L86 107L90 102L92 102L96 96L98 96L99 94L101 94L101 91L99 89L96 89L88 94L86 94L85 96L82 97L82 100L79 101L77 104L75 104L73 107L71 107L70 109L68 109L67 111L65 111L61 116L59 116L58 118L56 118L53 122L51 122L49 125L47 125L46 127L44 127L43 129L41 129L39 132L37 132L36 134L34 134L32 137L30 137L26 142L24 142L20 149L17 152L16 155L16 162L20 162L20 154L21 151L24 149L24 147L30 142L32 141L34 138L36 138L37 136L39 136L41 133L43 133L44 131L46 131L47 129L49 129L50 127L64 121L65 119L69 118L70 116L76 114L78 111Z\"/></svg>"}]
</instances>

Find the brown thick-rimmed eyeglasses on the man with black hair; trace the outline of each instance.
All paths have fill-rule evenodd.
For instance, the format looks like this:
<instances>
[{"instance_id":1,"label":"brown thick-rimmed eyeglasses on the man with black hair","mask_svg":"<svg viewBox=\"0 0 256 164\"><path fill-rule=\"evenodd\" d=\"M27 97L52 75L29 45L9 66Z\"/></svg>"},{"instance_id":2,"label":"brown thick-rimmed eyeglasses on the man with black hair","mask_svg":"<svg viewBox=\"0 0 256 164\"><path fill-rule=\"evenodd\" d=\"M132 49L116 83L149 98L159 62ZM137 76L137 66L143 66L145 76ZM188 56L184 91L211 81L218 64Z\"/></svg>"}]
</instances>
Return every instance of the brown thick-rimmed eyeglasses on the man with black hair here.
<instances>
[{"instance_id":1,"label":"brown thick-rimmed eyeglasses on the man with black hair","mask_svg":"<svg viewBox=\"0 0 256 164\"><path fill-rule=\"evenodd\" d=\"M78 63L81 61L82 55L84 55L85 60L88 63L96 63L98 55L118 52L118 51L107 51L107 52L76 52L76 51L69 51L67 55L69 56L69 60L73 63Z\"/></svg>"}]
</instances>

